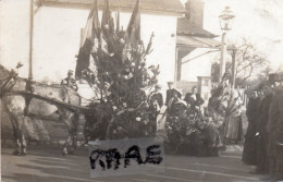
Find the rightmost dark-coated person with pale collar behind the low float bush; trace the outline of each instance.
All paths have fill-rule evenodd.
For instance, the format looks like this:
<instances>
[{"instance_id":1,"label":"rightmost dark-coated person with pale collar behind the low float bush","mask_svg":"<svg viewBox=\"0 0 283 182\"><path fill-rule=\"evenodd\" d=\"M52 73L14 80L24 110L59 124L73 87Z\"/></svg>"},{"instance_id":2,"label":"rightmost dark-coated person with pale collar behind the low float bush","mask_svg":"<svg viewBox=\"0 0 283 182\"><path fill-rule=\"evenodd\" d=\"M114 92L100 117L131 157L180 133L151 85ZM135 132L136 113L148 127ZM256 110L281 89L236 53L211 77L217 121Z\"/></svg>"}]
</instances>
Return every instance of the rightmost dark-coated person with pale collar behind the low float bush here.
<instances>
[{"instance_id":1,"label":"rightmost dark-coated person with pale collar behind the low float bush","mask_svg":"<svg viewBox=\"0 0 283 182\"><path fill-rule=\"evenodd\" d=\"M199 110L199 107L205 102L205 100L197 93L197 87L192 88L192 93L187 93L184 100L187 102L187 106L194 110Z\"/></svg>"}]
</instances>

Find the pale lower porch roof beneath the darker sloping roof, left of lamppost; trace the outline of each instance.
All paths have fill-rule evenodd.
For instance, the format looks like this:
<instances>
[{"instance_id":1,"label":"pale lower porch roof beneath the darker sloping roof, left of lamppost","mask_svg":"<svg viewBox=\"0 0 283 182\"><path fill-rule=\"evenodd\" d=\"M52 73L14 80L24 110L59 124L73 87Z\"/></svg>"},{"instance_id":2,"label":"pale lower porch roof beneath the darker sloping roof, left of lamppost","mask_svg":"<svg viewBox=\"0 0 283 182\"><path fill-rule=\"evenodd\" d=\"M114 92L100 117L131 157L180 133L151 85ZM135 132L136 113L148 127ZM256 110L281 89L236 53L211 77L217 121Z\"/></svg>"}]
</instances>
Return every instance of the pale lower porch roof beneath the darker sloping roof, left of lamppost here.
<instances>
[{"instance_id":1,"label":"pale lower porch roof beneath the darker sloping roof, left of lamppost","mask_svg":"<svg viewBox=\"0 0 283 182\"><path fill-rule=\"evenodd\" d=\"M214 48L219 49L221 43L209 37L177 35L176 45L190 48Z\"/></svg>"}]
</instances>

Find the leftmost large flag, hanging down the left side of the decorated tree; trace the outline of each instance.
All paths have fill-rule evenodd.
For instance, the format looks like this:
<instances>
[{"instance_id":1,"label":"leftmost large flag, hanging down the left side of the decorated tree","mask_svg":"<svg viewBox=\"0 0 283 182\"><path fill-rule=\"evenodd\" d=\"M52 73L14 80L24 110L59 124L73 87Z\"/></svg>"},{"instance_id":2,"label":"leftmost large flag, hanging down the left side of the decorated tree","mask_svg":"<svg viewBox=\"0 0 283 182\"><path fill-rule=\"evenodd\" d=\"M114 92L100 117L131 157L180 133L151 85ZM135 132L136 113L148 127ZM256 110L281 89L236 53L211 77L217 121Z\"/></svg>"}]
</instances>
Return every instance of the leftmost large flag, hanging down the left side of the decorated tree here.
<instances>
[{"instance_id":1,"label":"leftmost large flag, hanging down the left side of the decorated tree","mask_svg":"<svg viewBox=\"0 0 283 182\"><path fill-rule=\"evenodd\" d=\"M93 51L93 47L97 41L100 41L101 28L98 19L97 0L94 1L90 9L86 26L83 31L81 48L78 50L75 77L76 80L82 77L82 71L88 69L89 58Z\"/></svg>"}]
</instances>

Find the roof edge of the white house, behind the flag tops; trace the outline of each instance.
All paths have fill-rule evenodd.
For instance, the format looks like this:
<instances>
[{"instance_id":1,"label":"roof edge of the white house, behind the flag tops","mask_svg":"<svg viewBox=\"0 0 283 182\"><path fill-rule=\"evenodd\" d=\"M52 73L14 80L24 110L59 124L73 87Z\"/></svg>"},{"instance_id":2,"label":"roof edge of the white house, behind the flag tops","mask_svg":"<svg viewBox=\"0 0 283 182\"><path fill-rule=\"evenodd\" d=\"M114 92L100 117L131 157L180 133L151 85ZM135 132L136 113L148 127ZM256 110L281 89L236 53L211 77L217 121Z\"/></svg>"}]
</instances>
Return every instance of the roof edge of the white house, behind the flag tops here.
<instances>
[{"instance_id":1,"label":"roof edge of the white house, behind the flag tops","mask_svg":"<svg viewBox=\"0 0 283 182\"><path fill-rule=\"evenodd\" d=\"M41 0L42 5L90 9L94 0ZM116 10L119 0L109 0L110 10ZM98 8L102 10L104 0L97 0ZM132 12L136 0L120 0L120 10ZM140 0L142 13L157 13L167 15L183 15L184 5L180 0Z\"/></svg>"}]
</instances>

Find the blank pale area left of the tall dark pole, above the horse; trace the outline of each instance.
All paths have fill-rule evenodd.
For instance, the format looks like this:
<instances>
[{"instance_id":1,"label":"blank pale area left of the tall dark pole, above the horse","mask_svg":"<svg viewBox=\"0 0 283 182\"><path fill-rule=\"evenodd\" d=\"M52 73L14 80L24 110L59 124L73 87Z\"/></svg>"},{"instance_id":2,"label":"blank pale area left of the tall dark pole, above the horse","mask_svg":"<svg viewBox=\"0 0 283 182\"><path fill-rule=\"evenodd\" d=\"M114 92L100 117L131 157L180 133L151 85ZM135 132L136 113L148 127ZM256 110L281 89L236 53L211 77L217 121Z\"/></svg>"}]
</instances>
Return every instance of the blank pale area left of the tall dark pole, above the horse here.
<instances>
[{"instance_id":1,"label":"blank pale area left of the tall dark pole, above the horse","mask_svg":"<svg viewBox=\"0 0 283 182\"><path fill-rule=\"evenodd\" d=\"M28 0L0 1L0 63L12 69L28 58Z\"/></svg>"}]
</instances>

